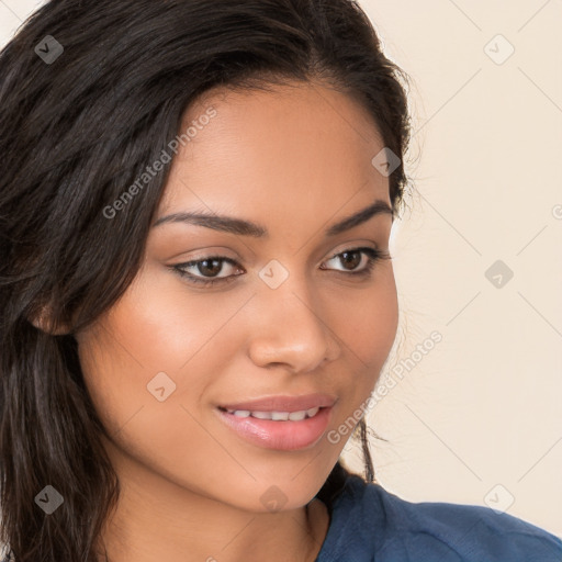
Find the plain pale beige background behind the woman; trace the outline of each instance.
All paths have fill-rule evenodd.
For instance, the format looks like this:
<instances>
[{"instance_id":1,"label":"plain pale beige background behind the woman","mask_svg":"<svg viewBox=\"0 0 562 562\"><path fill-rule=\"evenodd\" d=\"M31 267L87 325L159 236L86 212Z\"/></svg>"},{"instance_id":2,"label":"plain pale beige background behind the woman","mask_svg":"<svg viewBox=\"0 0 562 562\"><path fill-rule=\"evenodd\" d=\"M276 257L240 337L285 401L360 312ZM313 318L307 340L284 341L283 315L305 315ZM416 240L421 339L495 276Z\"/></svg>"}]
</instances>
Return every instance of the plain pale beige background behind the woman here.
<instances>
[{"instance_id":1,"label":"plain pale beige background behind the woman","mask_svg":"<svg viewBox=\"0 0 562 562\"><path fill-rule=\"evenodd\" d=\"M2 44L40 3L0 0ZM360 4L413 79L412 195L393 233L405 336L385 368L398 382L368 414L387 439L372 441L378 479L562 537L562 1ZM501 288L496 260L514 272Z\"/></svg>"}]
</instances>

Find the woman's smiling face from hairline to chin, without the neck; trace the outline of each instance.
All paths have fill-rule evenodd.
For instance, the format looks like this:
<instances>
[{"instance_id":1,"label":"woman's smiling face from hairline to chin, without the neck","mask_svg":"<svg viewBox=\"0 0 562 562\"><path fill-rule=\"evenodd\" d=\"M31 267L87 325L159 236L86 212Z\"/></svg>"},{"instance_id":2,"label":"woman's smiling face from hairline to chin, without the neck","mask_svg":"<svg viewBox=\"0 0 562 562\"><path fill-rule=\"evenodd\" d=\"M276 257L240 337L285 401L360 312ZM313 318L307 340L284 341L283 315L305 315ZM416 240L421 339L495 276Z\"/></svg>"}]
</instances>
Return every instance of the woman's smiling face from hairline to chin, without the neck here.
<instances>
[{"instance_id":1,"label":"woman's smiling face from hairline to chin, without the neck","mask_svg":"<svg viewBox=\"0 0 562 562\"><path fill-rule=\"evenodd\" d=\"M368 269L369 250L389 250L389 179L371 164L384 145L361 106L318 85L210 91L182 132L192 121L142 269L78 335L83 374L122 477L295 508L336 463L396 333L392 262ZM296 419L259 418L272 411Z\"/></svg>"}]
</instances>

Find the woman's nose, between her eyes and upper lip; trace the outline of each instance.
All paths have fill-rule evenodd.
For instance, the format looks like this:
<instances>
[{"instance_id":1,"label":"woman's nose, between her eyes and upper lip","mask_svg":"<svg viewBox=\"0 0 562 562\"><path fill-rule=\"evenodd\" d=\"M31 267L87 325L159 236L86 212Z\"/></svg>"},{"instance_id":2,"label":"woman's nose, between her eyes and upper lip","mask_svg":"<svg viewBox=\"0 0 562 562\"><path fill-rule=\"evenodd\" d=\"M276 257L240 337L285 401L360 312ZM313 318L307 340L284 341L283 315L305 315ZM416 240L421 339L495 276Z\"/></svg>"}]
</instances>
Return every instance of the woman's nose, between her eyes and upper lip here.
<instances>
[{"instance_id":1,"label":"woman's nose, between her eyes and upper lip","mask_svg":"<svg viewBox=\"0 0 562 562\"><path fill-rule=\"evenodd\" d=\"M289 276L277 289L263 284L252 304L248 355L258 367L310 372L339 357L338 339L305 280Z\"/></svg>"}]
</instances>

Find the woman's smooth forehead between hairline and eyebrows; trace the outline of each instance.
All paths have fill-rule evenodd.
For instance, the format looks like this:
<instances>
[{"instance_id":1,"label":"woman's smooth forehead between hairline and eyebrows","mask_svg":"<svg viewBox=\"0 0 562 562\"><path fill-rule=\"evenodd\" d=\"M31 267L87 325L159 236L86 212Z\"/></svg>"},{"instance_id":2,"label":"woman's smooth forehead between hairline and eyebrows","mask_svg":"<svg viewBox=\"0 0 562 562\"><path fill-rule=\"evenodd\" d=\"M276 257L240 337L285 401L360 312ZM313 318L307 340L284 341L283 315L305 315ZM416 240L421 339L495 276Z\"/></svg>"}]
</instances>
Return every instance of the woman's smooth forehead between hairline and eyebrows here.
<instances>
[{"instance_id":1,"label":"woman's smooth forehead between hairline and eyebrows","mask_svg":"<svg viewBox=\"0 0 562 562\"><path fill-rule=\"evenodd\" d=\"M390 204L389 180L371 164L384 145L361 104L319 83L270 88L215 88L188 109L181 132L192 134L172 162L161 212L294 214L297 204L329 215L353 198L355 207L375 198Z\"/></svg>"}]
</instances>

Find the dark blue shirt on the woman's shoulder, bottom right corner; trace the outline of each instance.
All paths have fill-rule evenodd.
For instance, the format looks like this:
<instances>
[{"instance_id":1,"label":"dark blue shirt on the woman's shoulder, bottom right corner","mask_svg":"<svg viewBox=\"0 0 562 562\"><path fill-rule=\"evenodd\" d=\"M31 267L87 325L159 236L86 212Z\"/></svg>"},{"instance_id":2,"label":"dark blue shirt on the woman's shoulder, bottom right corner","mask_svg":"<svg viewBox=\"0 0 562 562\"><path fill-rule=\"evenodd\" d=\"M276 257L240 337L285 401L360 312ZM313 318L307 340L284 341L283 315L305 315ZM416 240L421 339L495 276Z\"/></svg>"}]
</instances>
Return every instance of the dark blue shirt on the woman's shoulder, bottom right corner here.
<instances>
[{"instance_id":1,"label":"dark blue shirt on the woman's shoulder, bottom right corner","mask_svg":"<svg viewBox=\"0 0 562 562\"><path fill-rule=\"evenodd\" d=\"M316 562L562 562L562 540L488 507L412 503L351 475Z\"/></svg>"}]
</instances>

